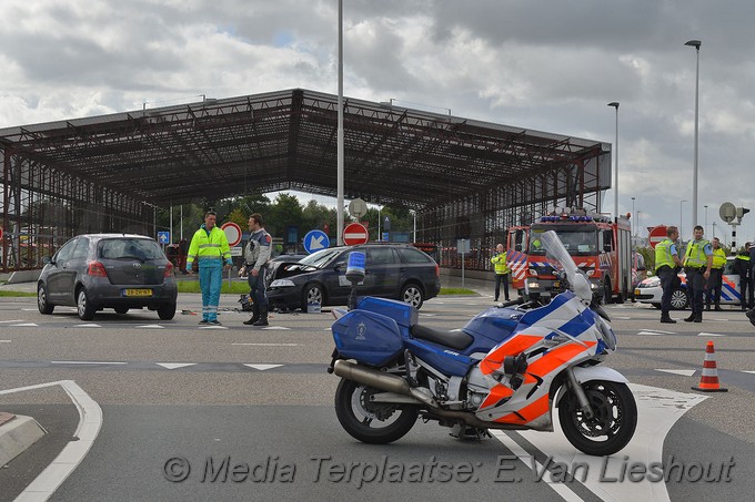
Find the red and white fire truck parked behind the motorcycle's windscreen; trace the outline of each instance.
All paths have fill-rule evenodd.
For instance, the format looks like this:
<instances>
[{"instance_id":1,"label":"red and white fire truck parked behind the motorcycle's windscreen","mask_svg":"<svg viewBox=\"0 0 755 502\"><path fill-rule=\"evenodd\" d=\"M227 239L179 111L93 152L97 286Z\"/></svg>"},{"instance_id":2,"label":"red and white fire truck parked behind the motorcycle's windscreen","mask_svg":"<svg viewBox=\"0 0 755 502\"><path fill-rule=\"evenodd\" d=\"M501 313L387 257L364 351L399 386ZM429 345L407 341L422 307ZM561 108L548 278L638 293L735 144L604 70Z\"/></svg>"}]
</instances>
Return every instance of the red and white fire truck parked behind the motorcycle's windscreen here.
<instances>
[{"instance_id":1,"label":"red and white fire truck parked behind the motorcycle's windscreen","mask_svg":"<svg viewBox=\"0 0 755 502\"><path fill-rule=\"evenodd\" d=\"M615 222L584 211L542 216L532 225L509 229L506 258L512 286L525 299L547 299L561 285L541 246L540 235L555 230L574 262L590 279L596 299L624 303L632 295L632 230L630 219Z\"/></svg>"}]
</instances>

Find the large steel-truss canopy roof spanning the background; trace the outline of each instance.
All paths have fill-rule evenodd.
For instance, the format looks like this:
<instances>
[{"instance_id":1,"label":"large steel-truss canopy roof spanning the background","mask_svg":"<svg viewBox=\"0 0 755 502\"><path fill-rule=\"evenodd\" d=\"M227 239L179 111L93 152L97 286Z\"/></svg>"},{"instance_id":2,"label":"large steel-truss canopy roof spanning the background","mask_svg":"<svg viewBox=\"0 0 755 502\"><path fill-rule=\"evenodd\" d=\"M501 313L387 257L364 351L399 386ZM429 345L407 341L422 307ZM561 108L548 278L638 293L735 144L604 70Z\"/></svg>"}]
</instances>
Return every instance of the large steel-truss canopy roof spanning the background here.
<instances>
[{"instance_id":1,"label":"large steel-truss canopy roof spanning the background","mask_svg":"<svg viewBox=\"0 0 755 502\"><path fill-rule=\"evenodd\" d=\"M159 206L336 195L338 96L294 89L0 130L6 153ZM596 156L596 141L344 99L345 197L422 209Z\"/></svg>"}]
</instances>

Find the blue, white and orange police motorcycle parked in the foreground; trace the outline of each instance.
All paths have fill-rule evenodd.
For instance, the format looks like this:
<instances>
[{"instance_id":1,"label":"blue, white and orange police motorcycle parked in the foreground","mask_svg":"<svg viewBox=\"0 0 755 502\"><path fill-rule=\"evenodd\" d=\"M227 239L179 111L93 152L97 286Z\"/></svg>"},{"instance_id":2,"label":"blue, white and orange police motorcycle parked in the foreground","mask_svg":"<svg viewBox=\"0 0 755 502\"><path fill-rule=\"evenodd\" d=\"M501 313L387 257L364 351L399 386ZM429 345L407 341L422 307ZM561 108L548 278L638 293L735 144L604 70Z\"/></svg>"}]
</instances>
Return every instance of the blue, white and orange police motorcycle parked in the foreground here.
<instances>
[{"instance_id":1,"label":"blue, white and orange police motorcycle parked in the foreground","mask_svg":"<svg viewBox=\"0 0 755 502\"><path fill-rule=\"evenodd\" d=\"M602 365L616 349L608 316L591 303L590 283L557 235L548 230L542 242L568 288L547 305L500 304L455 331L419 324L417 310L401 301L358 299L364 255L352 253L350 309L332 326L329 368L341 377L335 413L343 429L374 444L399 440L417 418L456 438L482 439L491 429L552 432L557 408L580 451L624 448L637 408L626 378Z\"/></svg>"}]
</instances>

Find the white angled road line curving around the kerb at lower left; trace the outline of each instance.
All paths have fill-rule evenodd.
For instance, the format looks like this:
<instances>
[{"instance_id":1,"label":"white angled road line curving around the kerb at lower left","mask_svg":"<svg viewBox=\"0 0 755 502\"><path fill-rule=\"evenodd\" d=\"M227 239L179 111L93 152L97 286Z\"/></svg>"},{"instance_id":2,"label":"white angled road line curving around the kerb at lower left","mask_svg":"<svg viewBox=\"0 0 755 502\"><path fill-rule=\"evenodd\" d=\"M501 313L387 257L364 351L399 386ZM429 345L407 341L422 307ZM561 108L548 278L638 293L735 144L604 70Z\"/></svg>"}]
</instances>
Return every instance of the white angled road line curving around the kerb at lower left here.
<instances>
[{"instance_id":1,"label":"white angled road line curving around the kerb at lower left","mask_svg":"<svg viewBox=\"0 0 755 502\"><path fill-rule=\"evenodd\" d=\"M37 386L19 387L16 389L0 390L1 395L37 390L46 387L60 386L66 390L71 401L79 411L79 426L73 437L56 459L21 492L17 502L31 502L48 500L79 467L102 427L102 409L84 390L73 380L61 380Z\"/></svg>"}]
</instances>

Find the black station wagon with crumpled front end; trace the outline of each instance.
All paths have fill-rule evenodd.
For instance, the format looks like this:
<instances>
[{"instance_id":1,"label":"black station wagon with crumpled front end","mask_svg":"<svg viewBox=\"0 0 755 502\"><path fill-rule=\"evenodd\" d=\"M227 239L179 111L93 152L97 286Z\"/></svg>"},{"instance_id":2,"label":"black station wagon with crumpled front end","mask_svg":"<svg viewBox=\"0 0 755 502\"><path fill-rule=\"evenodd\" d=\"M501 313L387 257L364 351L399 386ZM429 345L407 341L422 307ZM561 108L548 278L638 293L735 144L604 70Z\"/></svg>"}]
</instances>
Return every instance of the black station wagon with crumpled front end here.
<instances>
[{"instance_id":1,"label":"black station wagon with crumpled front end","mask_svg":"<svg viewBox=\"0 0 755 502\"><path fill-rule=\"evenodd\" d=\"M360 296L393 298L422 307L441 290L440 268L435 260L406 244L371 243L319 250L294 264L281 264L271 277L268 298L276 309L308 305L346 305L351 283L346 280L349 253L365 254L364 281Z\"/></svg>"}]
</instances>

